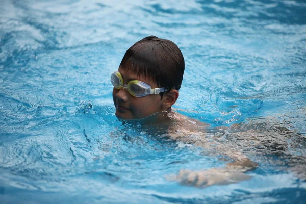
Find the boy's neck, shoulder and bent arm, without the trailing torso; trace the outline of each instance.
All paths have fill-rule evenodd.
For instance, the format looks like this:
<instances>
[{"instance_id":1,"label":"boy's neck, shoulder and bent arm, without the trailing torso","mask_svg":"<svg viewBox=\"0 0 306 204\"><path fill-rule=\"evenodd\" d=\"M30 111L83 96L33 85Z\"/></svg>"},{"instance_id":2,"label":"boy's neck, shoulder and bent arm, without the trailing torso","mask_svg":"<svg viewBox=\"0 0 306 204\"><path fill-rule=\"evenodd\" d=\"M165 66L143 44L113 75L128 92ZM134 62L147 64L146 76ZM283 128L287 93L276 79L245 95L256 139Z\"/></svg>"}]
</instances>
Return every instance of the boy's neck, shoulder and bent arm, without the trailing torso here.
<instances>
[{"instance_id":1,"label":"boy's neck, shoulder and bent arm, without the trailing torso","mask_svg":"<svg viewBox=\"0 0 306 204\"><path fill-rule=\"evenodd\" d=\"M218 141L217 135L209 130L209 124L172 110L158 112L141 120L124 121L126 122L142 124L141 130L146 130L151 135L169 137L177 142L201 147L203 151L211 152L213 157L225 156L228 158L225 168L202 171L181 169L177 175L165 175L167 179L178 181L183 185L208 187L244 181L251 178L245 172L258 166L239 149L230 149L231 144Z\"/></svg>"}]
</instances>

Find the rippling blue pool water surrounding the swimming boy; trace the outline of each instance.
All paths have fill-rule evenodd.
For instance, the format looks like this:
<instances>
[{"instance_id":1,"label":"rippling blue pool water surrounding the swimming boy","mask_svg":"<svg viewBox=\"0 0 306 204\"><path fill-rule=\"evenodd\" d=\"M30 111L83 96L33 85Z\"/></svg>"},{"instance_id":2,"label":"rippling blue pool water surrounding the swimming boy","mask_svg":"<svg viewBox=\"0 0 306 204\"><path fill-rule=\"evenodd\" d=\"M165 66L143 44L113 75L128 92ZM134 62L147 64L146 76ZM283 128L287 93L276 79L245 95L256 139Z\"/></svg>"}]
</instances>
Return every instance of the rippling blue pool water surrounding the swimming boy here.
<instances>
[{"instance_id":1,"label":"rippling blue pool water surrounding the swimming boy","mask_svg":"<svg viewBox=\"0 0 306 204\"><path fill-rule=\"evenodd\" d=\"M0 1L0 202L302 203L305 10L297 0ZM259 163L250 180L169 181L226 162L116 119L110 74L149 35L185 57L177 112L242 124L210 134Z\"/></svg>"}]
</instances>

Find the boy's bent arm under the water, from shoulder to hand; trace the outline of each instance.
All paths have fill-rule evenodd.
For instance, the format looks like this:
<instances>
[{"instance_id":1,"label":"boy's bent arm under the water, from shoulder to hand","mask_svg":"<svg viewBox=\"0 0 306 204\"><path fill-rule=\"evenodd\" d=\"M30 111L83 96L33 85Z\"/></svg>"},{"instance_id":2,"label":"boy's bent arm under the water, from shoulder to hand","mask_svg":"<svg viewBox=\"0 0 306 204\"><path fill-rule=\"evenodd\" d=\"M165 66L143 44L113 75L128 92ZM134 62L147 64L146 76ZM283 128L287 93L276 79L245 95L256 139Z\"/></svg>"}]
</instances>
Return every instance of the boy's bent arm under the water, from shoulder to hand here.
<instances>
[{"instance_id":1,"label":"boy's bent arm under the water, from shoulder to hand","mask_svg":"<svg viewBox=\"0 0 306 204\"><path fill-rule=\"evenodd\" d=\"M181 118L180 118L181 117ZM169 129L169 135L177 140L200 146L203 149L213 150L219 154L226 155L234 160L228 163L226 168L213 168L203 171L180 170L171 180L179 181L184 185L196 187L207 187L211 185L226 185L249 179L251 176L244 172L257 168L258 164L250 161L240 151L232 151L228 144L215 142L211 138L206 138L206 123L190 119L186 116L177 117L181 120L180 125L175 125ZM179 126L179 129L176 127ZM176 130L175 130L176 129ZM207 133L208 134L208 133Z\"/></svg>"}]
</instances>

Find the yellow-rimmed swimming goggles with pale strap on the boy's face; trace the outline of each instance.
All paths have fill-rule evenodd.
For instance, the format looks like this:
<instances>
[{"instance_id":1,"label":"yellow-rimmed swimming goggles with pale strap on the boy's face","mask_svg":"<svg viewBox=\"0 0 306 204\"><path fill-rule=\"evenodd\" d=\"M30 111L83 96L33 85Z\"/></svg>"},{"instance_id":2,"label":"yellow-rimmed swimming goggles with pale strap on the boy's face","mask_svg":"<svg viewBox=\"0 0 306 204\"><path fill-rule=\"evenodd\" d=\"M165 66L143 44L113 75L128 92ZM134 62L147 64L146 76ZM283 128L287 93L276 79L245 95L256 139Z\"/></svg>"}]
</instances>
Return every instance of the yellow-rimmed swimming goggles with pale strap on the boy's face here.
<instances>
[{"instance_id":1,"label":"yellow-rimmed swimming goggles with pale strap on the boy's face","mask_svg":"<svg viewBox=\"0 0 306 204\"><path fill-rule=\"evenodd\" d=\"M111 82L116 89L124 88L132 96L143 97L149 94L159 94L160 92L167 91L166 88L155 88L152 89L150 85L141 82L139 80L132 80L127 84L123 84L123 78L119 71L115 71L111 76Z\"/></svg>"}]
</instances>

